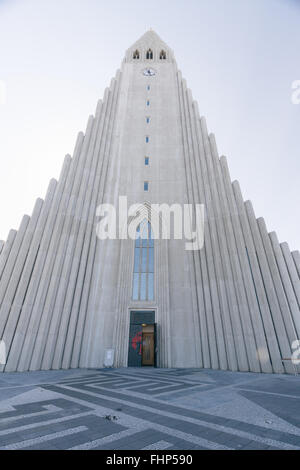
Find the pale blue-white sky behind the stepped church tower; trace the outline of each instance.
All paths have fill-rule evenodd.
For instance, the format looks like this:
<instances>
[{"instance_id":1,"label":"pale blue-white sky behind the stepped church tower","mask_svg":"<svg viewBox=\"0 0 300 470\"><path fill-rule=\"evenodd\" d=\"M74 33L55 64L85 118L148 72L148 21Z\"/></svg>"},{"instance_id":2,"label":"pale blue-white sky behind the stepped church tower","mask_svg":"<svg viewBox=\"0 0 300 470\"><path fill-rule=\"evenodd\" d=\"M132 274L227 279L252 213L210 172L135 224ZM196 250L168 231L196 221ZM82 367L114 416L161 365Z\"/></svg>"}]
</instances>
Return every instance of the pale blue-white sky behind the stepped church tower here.
<instances>
[{"instance_id":1,"label":"pale blue-white sky behind the stepped church tower","mask_svg":"<svg viewBox=\"0 0 300 470\"><path fill-rule=\"evenodd\" d=\"M257 217L300 247L299 0L0 0L0 239L31 213L152 27Z\"/></svg>"}]
</instances>

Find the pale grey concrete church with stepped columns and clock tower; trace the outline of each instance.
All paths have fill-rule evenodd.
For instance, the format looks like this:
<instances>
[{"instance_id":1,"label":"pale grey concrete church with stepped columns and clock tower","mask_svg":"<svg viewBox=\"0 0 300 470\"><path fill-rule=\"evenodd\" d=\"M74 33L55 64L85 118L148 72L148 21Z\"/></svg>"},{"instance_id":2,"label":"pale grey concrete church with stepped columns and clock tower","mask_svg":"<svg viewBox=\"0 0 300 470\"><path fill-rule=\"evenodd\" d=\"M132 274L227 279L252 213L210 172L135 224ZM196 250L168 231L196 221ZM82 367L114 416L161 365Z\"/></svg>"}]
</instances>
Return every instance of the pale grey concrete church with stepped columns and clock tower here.
<instances>
[{"instance_id":1,"label":"pale grey concrete church with stepped columns and clock tower","mask_svg":"<svg viewBox=\"0 0 300 470\"><path fill-rule=\"evenodd\" d=\"M204 204L204 247L151 230L145 244L99 240L96 208L125 195L145 218L153 203ZM114 366L293 371L282 358L300 338L299 252L243 201L153 31L0 251L3 371L102 367L106 348Z\"/></svg>"}]
</instances>

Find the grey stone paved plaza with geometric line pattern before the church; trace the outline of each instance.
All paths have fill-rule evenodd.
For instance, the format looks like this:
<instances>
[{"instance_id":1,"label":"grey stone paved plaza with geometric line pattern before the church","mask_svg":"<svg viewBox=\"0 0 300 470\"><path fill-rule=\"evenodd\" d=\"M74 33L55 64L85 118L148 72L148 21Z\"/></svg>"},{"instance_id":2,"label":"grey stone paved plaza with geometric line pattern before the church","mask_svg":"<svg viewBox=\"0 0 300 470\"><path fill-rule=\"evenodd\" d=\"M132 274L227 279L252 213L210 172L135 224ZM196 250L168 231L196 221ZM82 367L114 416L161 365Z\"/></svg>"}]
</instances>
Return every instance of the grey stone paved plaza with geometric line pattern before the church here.
<instances>
[{"instance_id":1,"label":"grey stone paved plaza with geometric line pattern before the church","mask_svg":"<svg viewBox=\"0 0 300 470\"><path fill-rule=\"evenodd\" d=\"M101 369L0 377L1 449L300 449L300 376Z\"/></svg>"}]
</instances>

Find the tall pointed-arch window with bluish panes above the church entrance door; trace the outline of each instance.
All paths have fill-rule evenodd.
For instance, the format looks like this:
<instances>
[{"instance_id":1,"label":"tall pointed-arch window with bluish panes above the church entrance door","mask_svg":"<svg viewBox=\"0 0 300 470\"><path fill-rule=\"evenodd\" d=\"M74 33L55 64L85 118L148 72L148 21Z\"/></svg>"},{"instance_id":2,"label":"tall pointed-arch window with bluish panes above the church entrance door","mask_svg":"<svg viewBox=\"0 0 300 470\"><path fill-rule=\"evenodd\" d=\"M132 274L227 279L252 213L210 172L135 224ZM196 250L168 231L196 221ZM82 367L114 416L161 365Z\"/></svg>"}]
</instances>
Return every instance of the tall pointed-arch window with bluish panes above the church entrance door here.
<instances>
[{"instance_id":1,"label":"tall pointed-arch window with bluish panes above the church entrance door","mask_svg":"<svg viewBox=\"0 0 300 470\"><path fill-rule=\"evenodd\" d=\"M154 299L154 240L151 224L146 219L136 231L132 299Z\"/></svg>"}]
</instances>

